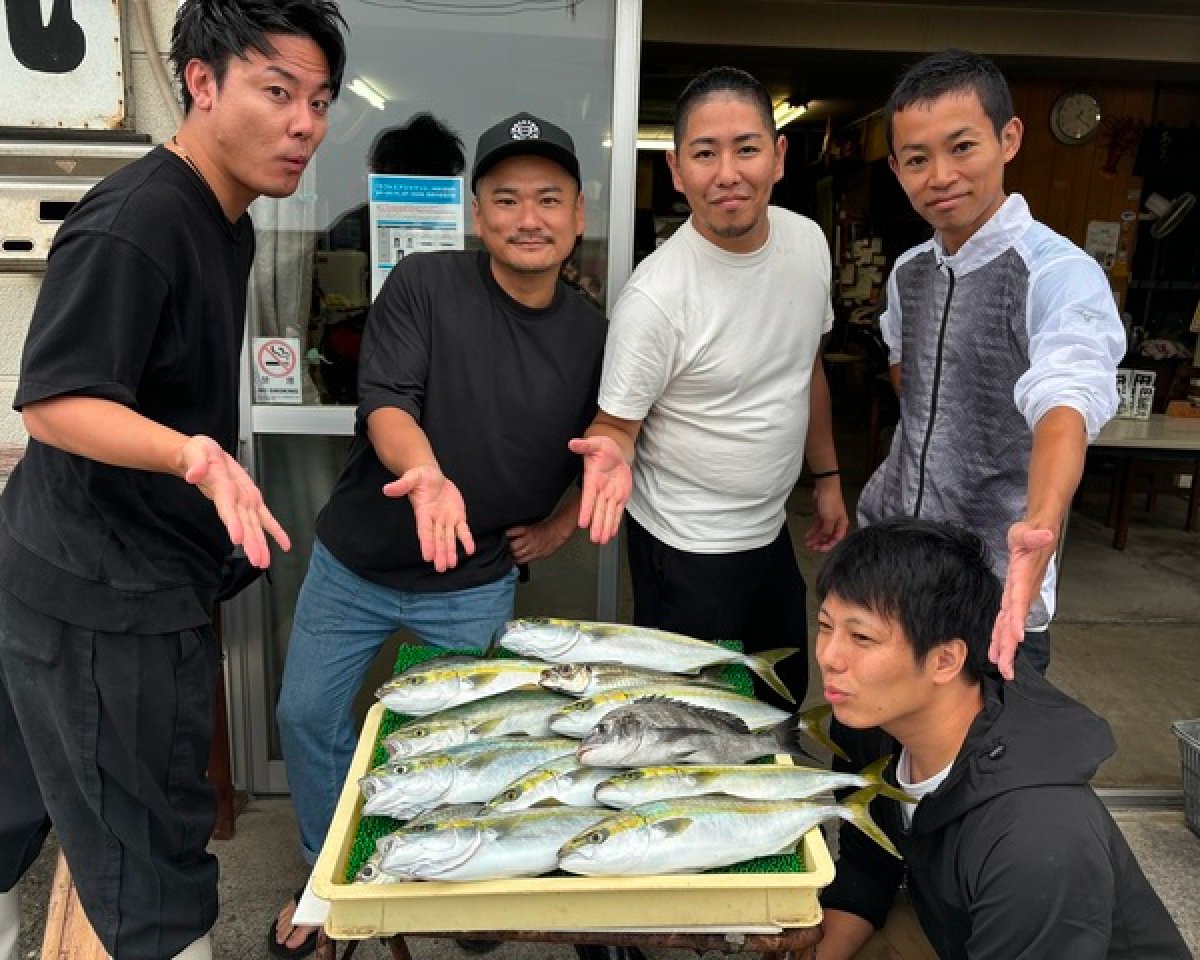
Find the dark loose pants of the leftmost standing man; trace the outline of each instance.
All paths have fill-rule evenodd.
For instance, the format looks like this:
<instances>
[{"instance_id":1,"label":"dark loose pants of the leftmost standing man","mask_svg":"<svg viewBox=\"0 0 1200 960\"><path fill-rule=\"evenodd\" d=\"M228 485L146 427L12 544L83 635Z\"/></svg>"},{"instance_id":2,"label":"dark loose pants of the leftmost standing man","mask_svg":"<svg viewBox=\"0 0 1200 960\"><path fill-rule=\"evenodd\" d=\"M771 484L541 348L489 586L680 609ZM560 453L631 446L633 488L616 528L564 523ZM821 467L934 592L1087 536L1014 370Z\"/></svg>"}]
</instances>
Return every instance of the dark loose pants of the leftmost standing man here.
<instances>
[{"instance_id":1,"label":"dark loose pants of the leftmost standing man","mask_svg":"<svg viewBox=\"0 0 1200 960\"><path fill-rule=\"evenodd\" d=\"M211 629L115 636L0 590L0 890L53 822L115 960L167 960L217 914Z\"/></svg>"}]
</instances>

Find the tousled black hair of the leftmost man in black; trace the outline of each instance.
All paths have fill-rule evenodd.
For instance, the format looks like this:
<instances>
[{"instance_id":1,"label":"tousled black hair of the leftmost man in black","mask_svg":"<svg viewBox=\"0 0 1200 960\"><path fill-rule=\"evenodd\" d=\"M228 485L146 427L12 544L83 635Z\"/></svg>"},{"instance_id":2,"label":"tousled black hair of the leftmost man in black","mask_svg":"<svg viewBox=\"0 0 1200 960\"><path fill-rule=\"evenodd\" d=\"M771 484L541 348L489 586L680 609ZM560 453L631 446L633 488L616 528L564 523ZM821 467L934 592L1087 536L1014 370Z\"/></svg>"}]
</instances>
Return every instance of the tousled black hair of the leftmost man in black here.
<instances>
[{"instance_id":1,"label":"tousled black hair of the leftmost man in black","mask_svg":"<svg viewBox=\"0 0 1200 960\"><path fill-rule=\"evenodd\" d=\"M346 70L346 19L332 0L185 0L170 34L170 64L184 97L184 113L192 109L184 71L191 60L212 67L217 85L224 82L230 56L256 49L263 56L276 50L268 36L311 38L329 62L329 80L336 98Z\"/></svg>"}]
</instances>

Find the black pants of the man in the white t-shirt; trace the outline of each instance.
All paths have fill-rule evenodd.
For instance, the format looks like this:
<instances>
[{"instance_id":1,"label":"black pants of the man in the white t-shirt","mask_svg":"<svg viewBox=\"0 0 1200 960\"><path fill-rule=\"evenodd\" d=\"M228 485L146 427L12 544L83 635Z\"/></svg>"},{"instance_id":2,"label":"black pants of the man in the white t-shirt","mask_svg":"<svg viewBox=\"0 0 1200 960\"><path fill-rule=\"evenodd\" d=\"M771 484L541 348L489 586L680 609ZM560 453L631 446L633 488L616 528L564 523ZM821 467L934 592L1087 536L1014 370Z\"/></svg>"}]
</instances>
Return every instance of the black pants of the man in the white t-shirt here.
<instances>
[{"instance_id":1,"label":"black pants of the man in the white t-shirt","mask_svg":"<svg viewBox=\"0 0 1200 960\"><path fill-rule=\"evenodd\" d=\"M804 701L809 685L809 626L804 577L787 524L764 547L736 553L688 553L664 544L626 515L634 623L701 640L737 640L746 653L796 647L775 672ZM756 696L796 709L757 677Z\"/></svg>"}]
</instances>

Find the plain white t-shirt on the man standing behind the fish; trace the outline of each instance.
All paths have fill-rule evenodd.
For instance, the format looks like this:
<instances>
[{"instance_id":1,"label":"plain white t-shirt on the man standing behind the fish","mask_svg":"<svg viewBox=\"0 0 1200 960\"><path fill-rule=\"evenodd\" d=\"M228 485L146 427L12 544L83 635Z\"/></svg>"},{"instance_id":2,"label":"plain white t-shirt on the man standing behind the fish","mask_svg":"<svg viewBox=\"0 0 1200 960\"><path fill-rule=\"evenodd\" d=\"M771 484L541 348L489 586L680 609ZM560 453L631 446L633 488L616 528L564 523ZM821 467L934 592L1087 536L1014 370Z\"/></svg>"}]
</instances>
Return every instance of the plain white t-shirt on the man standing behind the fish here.
<instances>
[{"instance_id":1,"label":"plain white t-shirt on the man standing behind the fish","mask_svg":"<svg viewBox=\"0 0 1200 960\"><path fill-rule=\"evenodd\" d=\"M612 311L600 408L642 421L628 509L677 550L770 544L804 461L812 364L833 326L829 250L806 217L768 216L754 253L689 220Z\"/></svg>"}]
</instances>

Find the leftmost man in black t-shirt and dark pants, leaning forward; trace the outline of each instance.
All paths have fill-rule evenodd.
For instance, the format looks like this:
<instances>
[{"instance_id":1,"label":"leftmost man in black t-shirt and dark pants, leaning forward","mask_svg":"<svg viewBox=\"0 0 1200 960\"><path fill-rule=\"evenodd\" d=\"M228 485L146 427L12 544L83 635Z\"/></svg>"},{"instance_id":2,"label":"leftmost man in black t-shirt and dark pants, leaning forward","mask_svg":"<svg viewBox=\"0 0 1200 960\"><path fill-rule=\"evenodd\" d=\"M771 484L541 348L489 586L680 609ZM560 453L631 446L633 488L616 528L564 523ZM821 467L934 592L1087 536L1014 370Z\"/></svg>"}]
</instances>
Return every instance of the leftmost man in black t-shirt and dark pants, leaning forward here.
<instances>
[{"instance_id":1,"label":"leftmost man in black t-shirt and dark pants, leaning forward","mask_svg":"<svg viewBox=\"0 0 1200 960\"><path fill-rule=\"evenodd\" d=\"M288 548L234 458L246 208L299 185L343 26L329 0L184 4L176 136L50 250L0 499L0 960L52 824L115 960L212 955L212 608L234 545L257 568Z\"/></svg>"}]
</instances>

